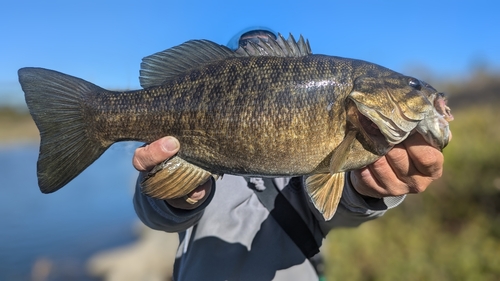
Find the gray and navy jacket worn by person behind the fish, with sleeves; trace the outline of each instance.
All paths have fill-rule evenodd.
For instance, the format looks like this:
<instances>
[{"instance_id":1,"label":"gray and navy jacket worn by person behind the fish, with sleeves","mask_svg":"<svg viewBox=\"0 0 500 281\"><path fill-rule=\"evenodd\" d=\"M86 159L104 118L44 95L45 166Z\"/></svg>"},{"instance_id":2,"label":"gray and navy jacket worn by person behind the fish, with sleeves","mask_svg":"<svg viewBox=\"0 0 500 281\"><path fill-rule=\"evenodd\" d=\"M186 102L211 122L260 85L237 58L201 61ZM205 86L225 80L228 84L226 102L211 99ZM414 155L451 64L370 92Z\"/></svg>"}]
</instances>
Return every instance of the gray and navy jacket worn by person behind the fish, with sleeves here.
<instances>
[{"instance_id":1,"label":"gray and navy jacket worn by person behind the fish, with sleeves","mask_svg":"<svg viewBox=\"0 0 500 281\"><path fill-rule=\"evenodd\" d=\"M284 178L274 181L319 242L332 228L358 226L404 199L366 202L347 183L335 216L324 221L304 188L290 187ZM144 224L179 232L174 280L318 280L308 259L269 216L244 178L225 175L216 183L209 198L191 211L147 197L137 184L134 206Z\"/></svg>"}]
</instances>

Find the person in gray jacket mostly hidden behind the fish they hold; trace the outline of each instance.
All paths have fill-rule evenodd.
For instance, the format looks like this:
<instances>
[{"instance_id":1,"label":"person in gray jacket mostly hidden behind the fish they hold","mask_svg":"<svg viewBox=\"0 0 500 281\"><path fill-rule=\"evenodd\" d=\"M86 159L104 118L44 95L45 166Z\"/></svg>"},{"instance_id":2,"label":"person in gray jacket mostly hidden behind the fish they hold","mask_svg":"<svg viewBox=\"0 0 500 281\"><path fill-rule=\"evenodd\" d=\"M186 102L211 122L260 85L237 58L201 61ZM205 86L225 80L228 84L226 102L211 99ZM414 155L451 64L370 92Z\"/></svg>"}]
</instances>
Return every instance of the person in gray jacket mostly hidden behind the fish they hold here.
<instances>
[{"instance_id":1,"label":"person in gray jacket mostly hidden behind the fish they hold","mask_svg":"<svg viewBox=\"0 0 500 281\"><path fill-rule=\"evenodd\" d=\"M267 29L256 29L236 38L239 40L230 47L248 48L251 53L262 42L270 41L269 46L275 46L277 37ZM451 116L440 97L434 106L442 116ZM359 123L368 122L359 114L355 116ZM366 131L382 135L375 124L370 126L373 128ZM134 206L147 226L179 232L174 280L318 280L310 258L331 229L356 227L378 218L399 205L406 194L423 192L441 177L441 149L451 139L451 133L436 144L436 139L429 138L429 131L417 131L394 142L373 163L344 168L340 194L329 193L325 199L315 199L308 192L307 185L314 183L308 178L314 176L266 179L235 175L224 175L217 181L209 177L178 198L153 198L144 193L151 171L175 157L183 147L175 137L160 138L135 152L133 165L141 174ZM351 143L359 137L353 134L351 142L341 143L335 154L341 154L341 149L353 149ZM339 162L347 161L342 157L333 159L327 163L330 167L340 167ZM325 215L328 201L335 204L331 215Z\"/></svg>"}]
</instances>

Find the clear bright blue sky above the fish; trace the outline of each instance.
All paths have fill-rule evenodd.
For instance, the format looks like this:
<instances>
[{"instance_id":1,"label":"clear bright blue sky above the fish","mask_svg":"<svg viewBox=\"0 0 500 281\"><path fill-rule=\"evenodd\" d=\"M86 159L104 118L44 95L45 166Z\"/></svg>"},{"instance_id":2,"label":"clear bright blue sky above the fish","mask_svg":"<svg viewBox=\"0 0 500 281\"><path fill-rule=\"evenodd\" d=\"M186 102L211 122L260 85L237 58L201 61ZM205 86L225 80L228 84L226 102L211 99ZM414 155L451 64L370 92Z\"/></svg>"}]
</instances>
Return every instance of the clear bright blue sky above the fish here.
<instances>
[{"instance_id":1,"label":"clear bright blue sky above the fish","mask_svg":"<svg viewBox=\"0 0 500 281\"><path fill-rule=\"evenodd\" d=\"M21 67L58 70L104 88L139 88L143 57L190 39L226 44L251 26L303 34L318 54L410 75L465 77L473 65L500 68L498 3L1 0L0 105L23 104Z\"/></svg>"}]
</instances>

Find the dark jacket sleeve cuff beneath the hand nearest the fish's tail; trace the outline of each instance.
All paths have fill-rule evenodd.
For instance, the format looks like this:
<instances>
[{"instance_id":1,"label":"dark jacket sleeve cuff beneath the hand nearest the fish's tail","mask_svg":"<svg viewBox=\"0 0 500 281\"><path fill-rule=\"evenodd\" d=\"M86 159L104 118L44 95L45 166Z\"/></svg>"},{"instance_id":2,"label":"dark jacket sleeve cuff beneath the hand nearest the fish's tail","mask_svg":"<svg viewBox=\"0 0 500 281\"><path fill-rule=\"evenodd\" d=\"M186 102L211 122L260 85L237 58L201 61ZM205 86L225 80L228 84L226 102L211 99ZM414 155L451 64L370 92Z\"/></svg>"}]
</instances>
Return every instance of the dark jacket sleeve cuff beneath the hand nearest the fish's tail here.
<instances>
[{"instance_id":1,"label":"dark jacket sleeve cuff beneath the hand nearest the fish's tail","mask_svg":"<svg viewBox=\"0 0 500 281\"><path fill-rule=\"evenodd\" d=\"M181 210L168 205L165 201L148 197L141 192L141 178L137 180L134 194L134 209L139 219L148 227L166 232L180 232L195 225L210 204L215 193L215 181L202 205L193 210Z\"/></svg>"}]
</instances>

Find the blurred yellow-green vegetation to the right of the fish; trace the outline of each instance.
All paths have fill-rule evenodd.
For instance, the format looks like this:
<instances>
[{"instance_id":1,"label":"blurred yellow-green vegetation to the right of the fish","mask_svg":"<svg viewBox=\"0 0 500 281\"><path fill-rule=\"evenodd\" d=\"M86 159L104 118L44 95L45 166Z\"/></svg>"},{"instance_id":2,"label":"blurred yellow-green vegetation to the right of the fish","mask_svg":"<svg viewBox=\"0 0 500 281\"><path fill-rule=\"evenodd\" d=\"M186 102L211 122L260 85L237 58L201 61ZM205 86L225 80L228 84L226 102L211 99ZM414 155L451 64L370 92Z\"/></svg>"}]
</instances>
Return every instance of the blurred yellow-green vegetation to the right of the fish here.
<instances>
[{"instance_id":1,"label":"blurred yellow-green vegetation to the right of the fish","mask_svg":"<svg viewBox=\"0 0 500 281\"><path fill-rule=\"evenodd\" d=\"M500 75L438 84L455 117L443 177L376 221L330 232L327 280L500 280Z\"/></svg>"}]
</instances>

